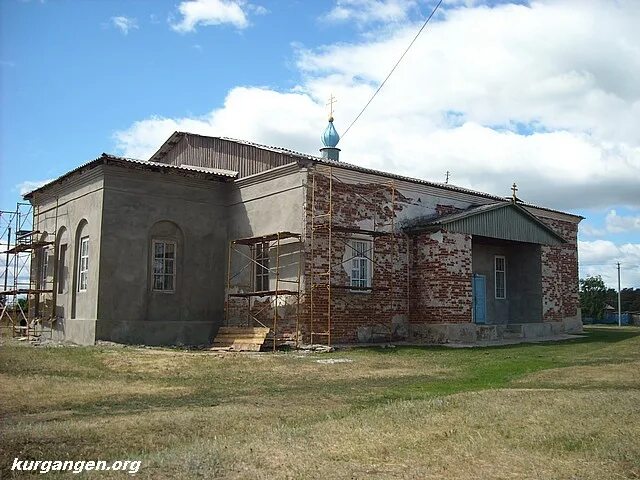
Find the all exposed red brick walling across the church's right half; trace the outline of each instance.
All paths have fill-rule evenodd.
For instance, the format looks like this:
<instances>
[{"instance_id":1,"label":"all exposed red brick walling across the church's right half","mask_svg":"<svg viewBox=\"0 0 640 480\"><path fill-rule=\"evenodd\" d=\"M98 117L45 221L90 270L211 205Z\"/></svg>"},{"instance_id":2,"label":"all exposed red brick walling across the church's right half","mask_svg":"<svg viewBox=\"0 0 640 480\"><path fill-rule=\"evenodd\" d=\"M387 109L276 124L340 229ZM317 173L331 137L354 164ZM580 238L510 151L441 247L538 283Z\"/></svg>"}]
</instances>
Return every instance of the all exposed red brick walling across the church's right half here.
<instances>
[{"instance_id":1,"label":"all exposed red brick walling across the church's right half","mask_svg":"<svg viewBox=\"0 0 640 480\"><path fill-rule=\"evenodd\" d=\"M446 231L422 233L408 237L394 235L368 239L373 245L372 285L367 292L350 290L349 272L352 250L349 239L366 235L332 231L329 239L326 215L329 211L329 179L313 173L306 189L306 218L303 294L300 299L301 341L311 341L311 331L326 332L331 317L331 342L354 343L358 332L373 328L378 339L401 339L394 318L406 319L413 325L434 323L469 323L472 311L472 247L471 236ZM380 184L343 184L333 180L332 222L340 227L391 231L394 214L407 207L407 199L395 192L392 211L392 188ZM312 229L312 204L315 194L315 228ZM436 205L438 213L451 213L456 207ZM571 222L541 218L569 242L555 247L542 246L543 318L558 321L573 317L578 308L577 225ZM395 222L395 220L394 220ZM312 242L313 230L313 242ZM329 248L331 245L331 248ZM312 251L313 248L313 251ZM331 250L331 258L329 251ZM331 276L327 275L331 265ZM328 284L332 284L329 300ZM312 295L313 288L313 295ZM313 301L312 301L313 297ZM265 324L272 322L273 311L265 307L265 299L254 299L251 311ZM231 301L227 308L240 319L246 300ZM245 307L246 308L246 307ZM312 315L313 310L313 315ZM313 320L313 325L312 325ZM242 321L242 320L241 320ZM278 337L295 334L295 309L283 306L278 315ZM394 336L394 334L397 334ZM326 336L316 336L314 343L326 343Z\"/></svg>"}]
</instances>

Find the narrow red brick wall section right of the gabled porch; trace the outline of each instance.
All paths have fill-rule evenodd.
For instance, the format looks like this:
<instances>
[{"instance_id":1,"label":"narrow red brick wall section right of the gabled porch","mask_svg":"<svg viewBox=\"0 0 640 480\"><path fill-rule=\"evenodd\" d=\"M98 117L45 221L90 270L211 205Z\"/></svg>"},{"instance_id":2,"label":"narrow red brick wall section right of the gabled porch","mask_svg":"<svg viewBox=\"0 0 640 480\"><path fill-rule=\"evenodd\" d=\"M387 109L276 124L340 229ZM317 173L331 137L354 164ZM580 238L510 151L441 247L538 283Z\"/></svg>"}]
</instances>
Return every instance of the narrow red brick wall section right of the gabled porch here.
<instances>
[{"instance_id":1,"label":"narrow red brick wall section right of the gabled porch","mask_svg":"<svg viewBox=\"0 0 640 480\"><path fill-rule=\"evenodd\" d=\"M578 225L572 222L539 217L567 240L557 246L543 245L542 317L557 322L578 314Z\"/></svg>"}]
</instances>

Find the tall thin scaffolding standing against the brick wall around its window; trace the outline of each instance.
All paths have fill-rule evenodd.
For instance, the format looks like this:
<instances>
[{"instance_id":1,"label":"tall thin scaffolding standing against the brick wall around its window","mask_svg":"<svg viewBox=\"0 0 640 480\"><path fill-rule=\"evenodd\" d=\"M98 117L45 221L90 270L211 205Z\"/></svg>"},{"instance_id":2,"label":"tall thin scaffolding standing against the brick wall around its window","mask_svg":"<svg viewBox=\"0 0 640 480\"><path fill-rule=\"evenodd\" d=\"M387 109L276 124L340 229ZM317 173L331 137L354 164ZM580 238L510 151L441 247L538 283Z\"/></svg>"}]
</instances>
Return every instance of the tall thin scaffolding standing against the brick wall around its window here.
<instances>
[{"instance_id":1,"label":"tall thin scaffolding standing against the brick wall around its window","mask_svg":"<svg viewBox=\"0 0 640 480\"><path fill-rule=\"evenodd\" d=\"M325 185L321 185L324 182ZM328 346L331 346L332 336L332 322L334 317L334 290L342 292L377 292L388 291L389 294L384 298L386 299L386 307L389 312L388 318L384 315L385 305L378 305L380 309L381 321L380 325L388 329L388 338L391 340L393 331L393 316L396 311L395 300L395 277L396 277L396 258L397 258L397 242L395 232L395 211L396 211L396 197L397 191L395 182L393 180L384 183L376 183L374 189L371 188L358 188L356 185L346 183L336 177L333 172L332 166L316 166L312 172L311 178L311 231L310 231L310 259L309 259L309 328L310 328L310 340L311 343L316 343L317 337L321 337L325 340ZM319 198L321 189L325 187L324 199ZM366 207L366 214L361 218L349 219L349 223L353 223L357 220L359 226L348 226L340 224L340 219L336 219L336 211L334 209L334 197L336 196L336 188L341 189L343 192L348 192L353 196L353 200L361 202ZM358 191L363 190L363 191ZM376 200L376 196L381 193L389 195L389 202L380 204L379 200ZM386 208L389 208L388 214L384 214ZM372 214L373 212L373 214ZM388 218L387 218L388 217ZM360 225L367 224L370 228L362 228ZM371 239L371 248L364 255L362 252L356 252L350 240L354 236L362 236ZM357 237L356 237L357 238ZM385 265L384 262L377 260L377 254L379 256L379 240L388 239L391 247L391 258L389 265ZM326 246L324 251L322 250L324 240L326 239ZM346 249L349 249L352 255L346 260L342 259L337 262L334 257L334 243L339 242L344 244ZM324 262L324 254L326 252L327 261ZM371 268L377 268L377 275L373 275L371 278L371 284L366 287L345 285L336 283L334 277L336 267L343 265L346 262L351 261L356 256L366 258L371 265ZM389 287L382 287L376 285L377 277L388 277ZM324 293L322 293L324 292ZM318 297L326 297L326 305L321 305L321 308L316 308ZM348 301L348 297L341 297L343 301ZM320 298L322 300L322 298ZM362 298L357 298L357 301L362 302ZM355 300L354 300L355 301Z\"/></svg>"}]
</instances>

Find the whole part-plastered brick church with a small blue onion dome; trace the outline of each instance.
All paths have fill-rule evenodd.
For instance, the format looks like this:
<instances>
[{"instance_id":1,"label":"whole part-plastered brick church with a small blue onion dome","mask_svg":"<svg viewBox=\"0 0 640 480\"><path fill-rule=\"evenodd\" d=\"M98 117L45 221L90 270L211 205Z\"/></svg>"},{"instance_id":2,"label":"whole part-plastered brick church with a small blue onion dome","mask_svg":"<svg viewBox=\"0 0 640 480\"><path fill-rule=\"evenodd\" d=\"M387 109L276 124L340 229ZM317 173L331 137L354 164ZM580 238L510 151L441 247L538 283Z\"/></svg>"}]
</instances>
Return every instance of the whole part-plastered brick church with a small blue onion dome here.
<instances>
[{"instance_id":1,"label":"whole part-plastered brick church with a small blue onion dome","mask_svg":"<svg viewBox=\"0 0 640 480\"><path fill-rule=\"evenodd\" d=\"M57 335L205 344L449 342L582 327L581 217L339 160L176 132L26 195ZM354 159L357 160L357 159ZM46 297L46 298L45 298ZM44 315L44 310L42 310Z\"/></svg>"}]
</instances>

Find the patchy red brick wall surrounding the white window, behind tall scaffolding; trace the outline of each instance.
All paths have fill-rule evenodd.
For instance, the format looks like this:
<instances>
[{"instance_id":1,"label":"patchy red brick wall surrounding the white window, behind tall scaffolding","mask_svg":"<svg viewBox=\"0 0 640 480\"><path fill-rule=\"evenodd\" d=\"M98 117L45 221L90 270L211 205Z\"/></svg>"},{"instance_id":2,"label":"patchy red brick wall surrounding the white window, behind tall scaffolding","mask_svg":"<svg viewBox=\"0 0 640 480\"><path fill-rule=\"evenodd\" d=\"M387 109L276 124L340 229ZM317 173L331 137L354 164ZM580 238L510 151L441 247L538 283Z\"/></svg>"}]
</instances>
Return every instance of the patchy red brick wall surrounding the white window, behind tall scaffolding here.
<instances>
[{"instance_id":1,"label":"patchy red brick wall surrounding the white window, behind tall scaffolding","mask_svg":"<svg viewBox=\"0 0 640 480\"><path fill-rule=\"evenodd\" d=\"M367 237L355 233L332 231L329 241L326 228L329 218L322 216L329 211L329 180L323 175L315 175L315 215L312 233L312 176L309 178L308 214L305 236L305 295L303 337L310 341L311 332L311 288L313 288L313 330L327 331L329 320L329 296L327 284L331 288L331 341L332 343L355 342L359 327L371 327L378 332L386 332L393 338L392 317L406 314L408 306L407 282L407 238L402 234ZM333 225L376 231L391 231L393 212L392 189L379 184L345 185L332 181L332 221ZM396 193L397 195L397 193ZM396 210L401 208L400 202ZM350 239L362 237L371 241L372 291L352 291L340 288L349 285L352 249ZM329 262L329 242L331 262ZM326 273L331 263L331 277ZM312 284L314 285L312 287ZM314 337L314 342L326 343L326 337Z\"/></svg>"}]
</instances>

